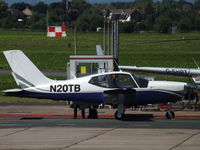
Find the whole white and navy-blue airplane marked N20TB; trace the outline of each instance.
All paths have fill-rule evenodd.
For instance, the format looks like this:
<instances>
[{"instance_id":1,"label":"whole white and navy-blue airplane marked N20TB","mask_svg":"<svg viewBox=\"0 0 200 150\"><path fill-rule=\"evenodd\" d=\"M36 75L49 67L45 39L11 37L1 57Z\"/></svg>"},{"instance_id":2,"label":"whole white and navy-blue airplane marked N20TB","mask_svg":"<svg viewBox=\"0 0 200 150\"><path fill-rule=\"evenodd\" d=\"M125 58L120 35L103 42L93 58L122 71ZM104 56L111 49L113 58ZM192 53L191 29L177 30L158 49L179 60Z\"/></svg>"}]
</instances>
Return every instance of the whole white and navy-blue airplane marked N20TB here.
<instances>
[{"instance_id":1,"label":"whole white and navy-blue airplane marked N20TB","mask_svg":"<svg viewBox=\"0 0 200 150\"><path fill-rule=\"evenodd\" d=\"M82 105L117 107L116 119L125 108L176 102L187 94L187 83L148 81L128 72L106 72L71 80L51 80L20 50L3 52L20 89L5 90L5 96L75 101Z\"/></svg>"}]
</instances>

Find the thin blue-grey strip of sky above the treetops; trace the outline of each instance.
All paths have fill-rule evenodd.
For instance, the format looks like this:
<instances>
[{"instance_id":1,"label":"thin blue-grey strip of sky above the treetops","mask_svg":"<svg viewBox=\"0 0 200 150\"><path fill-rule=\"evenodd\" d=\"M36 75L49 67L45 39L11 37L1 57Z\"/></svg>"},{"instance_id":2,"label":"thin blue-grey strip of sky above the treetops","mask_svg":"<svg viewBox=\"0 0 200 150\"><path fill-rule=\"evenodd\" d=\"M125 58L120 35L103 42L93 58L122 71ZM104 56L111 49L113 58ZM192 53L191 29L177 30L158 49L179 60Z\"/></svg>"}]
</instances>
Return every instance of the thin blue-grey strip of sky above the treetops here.
<instances>
[{"instance_id":1,"label":"thin blue-grey strip of sky above the treetops","mask_svg":"<svg viewBox=\"0 0 200 150\"><path fill-rule=\"evenodd\" d=\"M62 0L4 0L8 5L12 5L13 3L18 3L18 2L26 2L30 4L37 4L40 1L46 2L46 3L52 3L52 2L61 2ZM134 0L86 0L89 3L108 3L108 2L132 2ZM159 0L154 0L154 1L159 1ZM195 0L187 0L194 2Z\"/></svg>"}]
</instances>

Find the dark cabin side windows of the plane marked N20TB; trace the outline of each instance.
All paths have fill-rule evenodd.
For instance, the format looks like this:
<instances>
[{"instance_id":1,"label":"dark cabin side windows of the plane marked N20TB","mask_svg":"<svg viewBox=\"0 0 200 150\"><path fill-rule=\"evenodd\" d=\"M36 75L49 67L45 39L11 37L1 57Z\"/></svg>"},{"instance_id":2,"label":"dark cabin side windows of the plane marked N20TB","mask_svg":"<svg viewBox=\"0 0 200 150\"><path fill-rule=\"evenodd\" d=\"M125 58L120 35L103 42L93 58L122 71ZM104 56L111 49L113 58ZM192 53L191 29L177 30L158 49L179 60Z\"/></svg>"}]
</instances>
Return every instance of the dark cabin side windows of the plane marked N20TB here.
<instances>
[{"instance_id":1,"label":"dark cabin side windows of the plane marked N20TB","mask_svg":"<svg viewBox=\"0 0 200 150\"><path fill-rule=\"evenodd\" d=\"M107 74L92 77L90 84L105 88L135 88L137 87L133 78L128 74Z\"/></svg>"}]
</instances>

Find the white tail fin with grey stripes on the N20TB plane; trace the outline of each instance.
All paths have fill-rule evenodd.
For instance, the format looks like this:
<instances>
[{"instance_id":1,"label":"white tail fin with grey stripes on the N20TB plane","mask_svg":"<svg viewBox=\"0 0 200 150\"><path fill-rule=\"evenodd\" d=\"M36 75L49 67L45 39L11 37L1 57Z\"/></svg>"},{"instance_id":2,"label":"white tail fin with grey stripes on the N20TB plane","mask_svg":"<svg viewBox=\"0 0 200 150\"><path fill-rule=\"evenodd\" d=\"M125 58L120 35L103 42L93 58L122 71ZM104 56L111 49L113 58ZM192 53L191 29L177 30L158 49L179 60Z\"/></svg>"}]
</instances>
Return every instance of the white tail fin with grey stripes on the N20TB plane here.
<instances>
[{"instance_id":1,"label":"white tail fin with grey stripes on the N20TB plane","mask_svg":"<svg viewBox=\"0 0 200 150\"><path fill-rule=\"evenodd\" d=\"M20 50L3 52L11 69L12 75L21 88L34 87L50 82L40 70Z\"/></svg>"}]
</instances>

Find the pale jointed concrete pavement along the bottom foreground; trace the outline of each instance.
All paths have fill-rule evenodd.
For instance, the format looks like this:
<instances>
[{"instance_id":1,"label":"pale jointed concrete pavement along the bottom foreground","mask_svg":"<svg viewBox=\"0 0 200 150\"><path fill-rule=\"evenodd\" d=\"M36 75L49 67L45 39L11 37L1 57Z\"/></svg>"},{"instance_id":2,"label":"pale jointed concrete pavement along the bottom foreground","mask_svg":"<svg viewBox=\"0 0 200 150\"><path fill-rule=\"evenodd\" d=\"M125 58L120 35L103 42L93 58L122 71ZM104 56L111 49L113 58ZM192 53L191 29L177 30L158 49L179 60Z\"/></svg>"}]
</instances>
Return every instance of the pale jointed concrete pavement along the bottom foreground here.
<instances>
[{"instance_id":1,"label":"pale jointed concrete pavement along the bottom foreground","mask_svg":"<svg viewBox=\"0 0 200 150\"><path fill-rule=\"evenodd\" d=\"M199 130L37 127L0 129L0 149L199 150Z\"/></svg>"}]
</instances>

